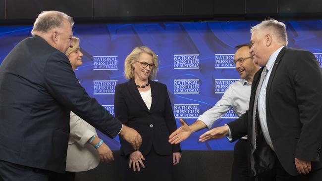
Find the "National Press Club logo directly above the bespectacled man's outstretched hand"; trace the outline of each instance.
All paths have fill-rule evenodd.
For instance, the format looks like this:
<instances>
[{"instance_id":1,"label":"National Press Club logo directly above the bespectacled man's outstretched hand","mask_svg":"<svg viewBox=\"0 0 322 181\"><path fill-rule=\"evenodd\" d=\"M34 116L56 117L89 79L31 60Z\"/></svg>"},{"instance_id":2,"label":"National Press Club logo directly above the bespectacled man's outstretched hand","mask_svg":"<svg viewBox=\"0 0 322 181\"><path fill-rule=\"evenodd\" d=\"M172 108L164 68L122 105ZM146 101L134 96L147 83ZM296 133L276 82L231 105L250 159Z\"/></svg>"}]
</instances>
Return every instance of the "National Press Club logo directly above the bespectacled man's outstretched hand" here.
<instances>
[{"instance_id":1,"label":"National Press Club logo directly above the bespectacled man's outstretched hand","mask_svg":"<svg viewBox=\"0 0 322 181\"><path fill-rule=\"evenodd\" d=\"M175 119L197 119L199 104L173 104Z\"/></svg>"}]
</instances>

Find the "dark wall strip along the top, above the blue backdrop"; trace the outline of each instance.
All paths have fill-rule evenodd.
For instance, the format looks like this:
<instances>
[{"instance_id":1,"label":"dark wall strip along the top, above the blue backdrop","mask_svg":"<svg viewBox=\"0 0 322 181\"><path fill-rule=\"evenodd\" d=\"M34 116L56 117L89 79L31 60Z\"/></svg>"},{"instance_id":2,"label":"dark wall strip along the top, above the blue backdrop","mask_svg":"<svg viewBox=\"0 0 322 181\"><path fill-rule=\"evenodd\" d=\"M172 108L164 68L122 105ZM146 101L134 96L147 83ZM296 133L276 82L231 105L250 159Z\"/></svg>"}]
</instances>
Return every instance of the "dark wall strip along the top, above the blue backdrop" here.
<instances>
[{"instance_id":1,"label":"dark wall strip along the top, above the blue backdrop","mask_svg":"<svg viewBox=\"0 0 322 181\"><path fill-rule=\"evenodd\" d=\"M87 20L321 18L321 0L0 0L0 20L35 19L59 10ZM6 3L5 3L6 2Z\"/></svg>"}]
</instances>

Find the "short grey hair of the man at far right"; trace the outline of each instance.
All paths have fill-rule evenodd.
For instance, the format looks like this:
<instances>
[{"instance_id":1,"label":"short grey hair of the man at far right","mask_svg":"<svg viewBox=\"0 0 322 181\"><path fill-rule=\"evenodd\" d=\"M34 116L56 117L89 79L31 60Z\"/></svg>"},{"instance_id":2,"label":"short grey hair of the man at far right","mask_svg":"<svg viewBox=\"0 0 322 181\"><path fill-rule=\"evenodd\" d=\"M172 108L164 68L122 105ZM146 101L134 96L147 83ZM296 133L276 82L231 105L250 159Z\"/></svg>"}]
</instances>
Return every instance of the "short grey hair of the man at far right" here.
<instances>
[{"instance_id":1,"label":"short grey hair of the man at far right","mask_svg":"<svg viewBox=\"0 0 322 181\"><path fill-rule=\"evenodd\" d=\"M251 28L251 33L253 33L254 31L269 31L269 33L277 37L278 43L285 46L287 45L286 26L284 23L280 21L277 21L272 18L264 20L260 24Z\"/></svg>"}]
</instances>

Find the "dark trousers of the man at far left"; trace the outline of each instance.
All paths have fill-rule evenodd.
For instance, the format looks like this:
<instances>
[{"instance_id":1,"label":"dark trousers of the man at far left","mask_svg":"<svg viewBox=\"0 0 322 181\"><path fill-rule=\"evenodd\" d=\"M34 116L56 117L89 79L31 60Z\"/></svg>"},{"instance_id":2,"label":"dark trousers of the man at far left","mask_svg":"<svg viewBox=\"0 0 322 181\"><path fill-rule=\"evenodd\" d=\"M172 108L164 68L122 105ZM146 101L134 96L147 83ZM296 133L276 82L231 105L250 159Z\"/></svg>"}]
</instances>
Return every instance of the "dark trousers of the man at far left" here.
<instances>
[{"instance_id":1,"label":"dark trousers of the man at far left","mask_svg":"<svg viewBox=\"0 0 322 181\"><path fill-rule=\"evenodd\" d=\"M53 173L0 160L0 181L48 181Z\"/></svg>"}]
</instances>

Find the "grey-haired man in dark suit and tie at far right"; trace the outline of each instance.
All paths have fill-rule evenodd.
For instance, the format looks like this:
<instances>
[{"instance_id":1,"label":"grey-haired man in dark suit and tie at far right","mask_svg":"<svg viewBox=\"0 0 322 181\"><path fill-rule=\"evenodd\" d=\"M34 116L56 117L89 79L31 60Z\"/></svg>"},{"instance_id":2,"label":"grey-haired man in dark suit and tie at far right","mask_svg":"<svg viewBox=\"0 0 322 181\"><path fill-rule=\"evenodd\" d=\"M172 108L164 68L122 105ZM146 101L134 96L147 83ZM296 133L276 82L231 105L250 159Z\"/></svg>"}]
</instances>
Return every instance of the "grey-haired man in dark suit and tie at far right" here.
<instances>
[{"instance_id":1,"label":"grey-haired man in dark suit and tie at far right","mask_svg":"<svg viewBox=\"0 0 322 181\"><path fill-rule=\"evenodd\" d=\"M282 22L251 29L250 52L261 70L254 76L248 111L200 136L200 141L248 134L253 176L275 170L276 181L321 181L322 75L315 56L285 47Z\"/></svg>"}]
</instances>

